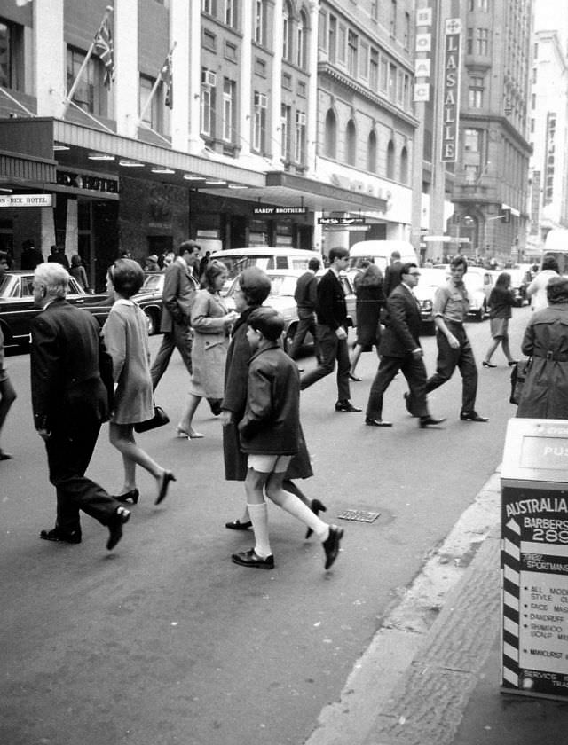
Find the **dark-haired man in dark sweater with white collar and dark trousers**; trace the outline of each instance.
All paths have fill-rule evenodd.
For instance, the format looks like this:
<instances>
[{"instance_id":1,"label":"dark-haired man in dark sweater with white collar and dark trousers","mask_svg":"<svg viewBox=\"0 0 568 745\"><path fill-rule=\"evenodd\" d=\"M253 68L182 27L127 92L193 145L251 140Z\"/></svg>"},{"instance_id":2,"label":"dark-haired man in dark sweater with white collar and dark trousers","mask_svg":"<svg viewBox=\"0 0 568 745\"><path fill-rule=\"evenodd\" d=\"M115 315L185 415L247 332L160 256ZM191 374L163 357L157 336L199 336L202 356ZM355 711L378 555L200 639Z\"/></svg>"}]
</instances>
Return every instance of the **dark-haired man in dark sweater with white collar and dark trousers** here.
<instances>
[{"instance_id":1,"label":"dark-haired man in dark sweater with white collar and dark trousers","mask_svg":"<svg viewBox=\"0 0 568 745\"><path fill-rule=\"evenodd\" d=\"M347 306L339 272L347 269L349 251L332 248L329 252L329 269L319 280L316 315L321 361L315 370L306 372L300 380L300 389L312 386L317 380L334 372L337 360L336 412L360 412L351 404L349 389L349 350L347 349Z\"/></svg>"}]
</instances>

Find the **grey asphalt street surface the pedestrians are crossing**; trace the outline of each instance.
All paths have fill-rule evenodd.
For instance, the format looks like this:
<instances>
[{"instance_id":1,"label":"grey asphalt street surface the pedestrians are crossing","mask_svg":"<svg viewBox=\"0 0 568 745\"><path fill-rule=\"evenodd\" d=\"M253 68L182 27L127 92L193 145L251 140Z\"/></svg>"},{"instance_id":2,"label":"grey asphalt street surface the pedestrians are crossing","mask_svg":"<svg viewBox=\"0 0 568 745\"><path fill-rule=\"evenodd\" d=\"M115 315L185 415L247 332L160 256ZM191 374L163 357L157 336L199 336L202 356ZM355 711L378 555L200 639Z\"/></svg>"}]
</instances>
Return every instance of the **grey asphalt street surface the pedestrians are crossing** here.
<instances>
[{"instance_id":1,"label":"grey asphalt street surface the pedestrians are crossing","mask_svg":"<svg viewBox=\"0 0 568 745\"><path fill-rule=\"evenodd\" d=\"M512 349L530 310L514 311ZM478 365L489 324L469 324ZM155 350L159 338L152 340ZM423 339L434 369L435 341ZM201 404L203 440L179 440L173 425L185 395L185 368L173 358L156 401L171 426L139 435L177 474L154 507L142 492L113 553L106 529L83 518L82 545L38 540L53 521L43 443L29 406L28 355L8 359L19 399L3 433L15 455L0 464L2 715L6 745L298 745L345 679L425 558L450 531L498 463L509 417L509 368L479 370L479 412L459 420L461 381L430 395L443 427L420 430L406 414L402 376L386 394L392 429L365 427L361 414L335 413L335 381L302 395L304 431L316 475L306 492L345 528L335 567L304 527L271 507L276 568L236 567L231 553L252 545L225 529L244 502L225 482L218 420ZM302 363L313 364L312 358ZM361 357L352 400L361 406L376 359ZM121 461L103 429L89 474L121 487ZM338 520L347 508L380 513L373 523ZM373 692L369 692L370 695Z\"/></svg>"}]
</instances>

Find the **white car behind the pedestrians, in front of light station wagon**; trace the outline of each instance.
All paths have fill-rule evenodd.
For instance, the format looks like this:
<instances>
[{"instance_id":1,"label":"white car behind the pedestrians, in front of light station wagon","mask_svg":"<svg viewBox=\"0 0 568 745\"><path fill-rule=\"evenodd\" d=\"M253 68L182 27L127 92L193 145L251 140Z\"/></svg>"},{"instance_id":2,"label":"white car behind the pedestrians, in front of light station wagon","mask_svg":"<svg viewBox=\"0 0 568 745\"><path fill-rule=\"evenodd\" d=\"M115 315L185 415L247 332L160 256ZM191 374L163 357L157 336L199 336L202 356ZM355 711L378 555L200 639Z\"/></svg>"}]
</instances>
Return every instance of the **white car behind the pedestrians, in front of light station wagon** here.
<instances>
[{"instance_id":1,"label":"white car behind the pedestrians, in front of light station wagon","mask_svg":"<svg viewBox=\"0 0 568 745\"><path fill-rule=\"evenodd\" d=\"M296 328L298 324L298 311L296 306L296 300L294 299L294 293L296 291L296 282L298 277L304 274L304 271L298 270L274 270L267 271L266 274L271 280L272 287L271 293L264 301L265 305L272 305L272 308L279 310L284 316L286 325L284 327L284 349L289 349ZM323 275L323 271L319 271L318 277ZM340 275L341 283L343 285L343 292L345 293L345 301L347 302L347 323L350 326L357 324L357 317L355 314L355 303L356 297L351 286L351 281L346 274ZM236 278L233 279L233 284L230 286L228 293L226 294L226 302L229 308L234 309L233 294L236 286ZM306 336L306 346L313 344L313 339Z\"/></svg>"}]
</instances>

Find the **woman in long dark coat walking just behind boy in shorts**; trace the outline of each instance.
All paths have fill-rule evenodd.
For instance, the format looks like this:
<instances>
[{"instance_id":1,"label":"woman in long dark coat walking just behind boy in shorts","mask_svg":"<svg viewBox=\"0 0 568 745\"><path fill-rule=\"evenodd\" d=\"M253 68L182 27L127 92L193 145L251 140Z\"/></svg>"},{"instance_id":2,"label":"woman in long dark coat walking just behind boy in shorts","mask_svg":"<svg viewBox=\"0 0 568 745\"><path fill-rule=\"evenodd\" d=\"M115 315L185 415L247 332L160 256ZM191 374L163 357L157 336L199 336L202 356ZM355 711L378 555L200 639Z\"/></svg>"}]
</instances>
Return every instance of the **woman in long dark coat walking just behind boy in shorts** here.
<instances>
[{"instance_id":1,"label":"woman in long dark coat walking just behind boy in shorts","mask_svg":"<svg viewBox=\"0 0 568 745\"><path fill-rule=\"evenodd\" d=\"M223 424L223 455L225 458L225 479L244 482L247 476L247 455L241 451L239 441L239 422L247 407L248 360L250 346L247 339L248 317L259 308L270 294L270 278L256 266L241 272L235 285L233 295L235 309L241 315L233 325L233 336L227 351L225 365L225 396L221 404L221 422ZM304 434L300 428L300 450L291 460L286 472L283 487L296 494L314 514L326 512L326 507L319 499L308 499L291 479L306 479L313 475L310 455ZM247 530L252 526L245 506L244 513L238 520L225 523L231 530ZM308 529L306 537L311 535Z\"/></svg>"}]
</instances>

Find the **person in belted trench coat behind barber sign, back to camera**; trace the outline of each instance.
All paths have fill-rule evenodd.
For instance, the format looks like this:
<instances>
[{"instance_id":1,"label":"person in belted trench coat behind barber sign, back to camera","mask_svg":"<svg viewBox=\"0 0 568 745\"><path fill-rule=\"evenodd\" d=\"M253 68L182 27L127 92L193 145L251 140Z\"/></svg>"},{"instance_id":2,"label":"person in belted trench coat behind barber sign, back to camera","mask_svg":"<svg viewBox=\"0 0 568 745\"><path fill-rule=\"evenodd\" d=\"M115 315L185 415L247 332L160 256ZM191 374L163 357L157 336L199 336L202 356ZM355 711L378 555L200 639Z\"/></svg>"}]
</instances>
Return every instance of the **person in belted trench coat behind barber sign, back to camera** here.
<instances>
[{"instance_id":1,"label":"person in belted trench coat behind barber sign, back to camera","mask_svg":"<svg viewBox=\"0 0 568 745\"><path fill-rule=\"evenodd\" d=\"M548 308L537 310L521 349L532 357L517 417L568 419L568 278L552 277Z\"/></svg>"}]
</instances>

